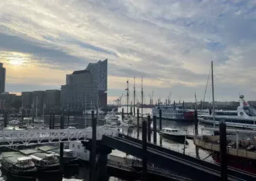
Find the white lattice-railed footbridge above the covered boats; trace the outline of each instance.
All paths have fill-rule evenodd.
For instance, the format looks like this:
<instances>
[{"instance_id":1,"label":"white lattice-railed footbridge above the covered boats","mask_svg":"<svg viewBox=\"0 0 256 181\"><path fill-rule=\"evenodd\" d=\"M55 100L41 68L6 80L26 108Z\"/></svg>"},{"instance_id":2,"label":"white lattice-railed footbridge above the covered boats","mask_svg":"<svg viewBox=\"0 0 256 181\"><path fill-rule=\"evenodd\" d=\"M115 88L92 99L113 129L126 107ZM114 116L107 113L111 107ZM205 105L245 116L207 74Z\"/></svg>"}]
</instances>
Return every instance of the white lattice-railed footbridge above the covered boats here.
<instances>
[{"instance_id":1,"label":"white lattice-railed footbridge above the covered boats","mask_svg":"<svg viewBox=\"0 0 256 181\"><path fill-rule=\"evenodd\" d=\"M97 127L96 139L102 140L103 135L117 136L118 130ZM92 139L92 127L86 129L33 129L33 130L2 130L0 131L0 147L19 145L35 145L47 143L63 143Z\"/></svg>"}]
</instances>

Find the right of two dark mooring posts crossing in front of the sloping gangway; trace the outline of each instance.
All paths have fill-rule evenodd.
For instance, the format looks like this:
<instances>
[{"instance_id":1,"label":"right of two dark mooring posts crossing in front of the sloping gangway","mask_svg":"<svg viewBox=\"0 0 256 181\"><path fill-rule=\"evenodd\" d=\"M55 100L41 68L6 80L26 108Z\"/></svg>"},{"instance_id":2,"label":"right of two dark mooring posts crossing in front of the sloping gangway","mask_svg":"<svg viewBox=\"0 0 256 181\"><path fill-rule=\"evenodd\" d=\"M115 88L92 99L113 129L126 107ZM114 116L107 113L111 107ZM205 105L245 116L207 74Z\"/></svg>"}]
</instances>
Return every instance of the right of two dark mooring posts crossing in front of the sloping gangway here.
<instances>
[{"instance_id":1,"label":"right of two dark mooring posts crossing in front of the sloping gangway","mask_svg":"<svg viewBox=\"0 0 256 181\"><path fill-rule=\"evenodd\" d=\"M228 179L227 166L227 130L225 120L220 120L220 166L221 166L221 181Z\"/></svg>"}]
</instances>

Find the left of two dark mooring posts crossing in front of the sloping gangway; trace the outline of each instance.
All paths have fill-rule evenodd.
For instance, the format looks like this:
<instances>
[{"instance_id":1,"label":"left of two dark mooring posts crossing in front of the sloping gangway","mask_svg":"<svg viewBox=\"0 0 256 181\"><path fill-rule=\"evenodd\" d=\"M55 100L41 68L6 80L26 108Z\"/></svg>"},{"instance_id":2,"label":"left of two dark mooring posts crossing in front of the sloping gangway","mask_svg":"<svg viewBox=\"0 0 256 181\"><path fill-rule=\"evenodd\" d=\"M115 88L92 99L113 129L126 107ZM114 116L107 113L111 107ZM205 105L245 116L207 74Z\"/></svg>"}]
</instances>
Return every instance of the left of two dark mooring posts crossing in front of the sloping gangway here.
<instances>
[{"instance_id":1,"label":"left of two dark mooring posts crossing in front of the sloping gangway","mask_svg":"<svg viewBox=\"0 0 256 181\"><path fill-rule=\"evenodd\" d=\"M148 166L148 155L147 155L147 122L142 120L142 149L143 149L143 178L147 180L147 166Z\"/></svg>"}]
</instances>

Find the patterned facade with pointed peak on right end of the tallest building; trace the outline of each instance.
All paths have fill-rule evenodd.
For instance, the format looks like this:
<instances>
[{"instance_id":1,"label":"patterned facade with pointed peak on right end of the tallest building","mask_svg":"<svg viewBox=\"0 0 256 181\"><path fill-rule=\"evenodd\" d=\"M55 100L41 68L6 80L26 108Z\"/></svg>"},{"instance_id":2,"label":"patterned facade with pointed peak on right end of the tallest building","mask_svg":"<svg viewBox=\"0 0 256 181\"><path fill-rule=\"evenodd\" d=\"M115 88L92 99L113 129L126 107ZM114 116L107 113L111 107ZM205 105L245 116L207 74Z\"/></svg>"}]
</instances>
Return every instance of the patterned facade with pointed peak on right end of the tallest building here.
<instances>
[{"instance_id":1,"label":"patterned facade with pointed peak on right end of the tallest building","mask_svg":"<svg viewBox=\"0 0 256 181\"><path fill-rule=\"evenodd\" d=\"M89 63L86 70L92 75L92 82L97 83L99 91L99 104L106 106L108 102L108 59Z\"/></svg>"}]
</instances>

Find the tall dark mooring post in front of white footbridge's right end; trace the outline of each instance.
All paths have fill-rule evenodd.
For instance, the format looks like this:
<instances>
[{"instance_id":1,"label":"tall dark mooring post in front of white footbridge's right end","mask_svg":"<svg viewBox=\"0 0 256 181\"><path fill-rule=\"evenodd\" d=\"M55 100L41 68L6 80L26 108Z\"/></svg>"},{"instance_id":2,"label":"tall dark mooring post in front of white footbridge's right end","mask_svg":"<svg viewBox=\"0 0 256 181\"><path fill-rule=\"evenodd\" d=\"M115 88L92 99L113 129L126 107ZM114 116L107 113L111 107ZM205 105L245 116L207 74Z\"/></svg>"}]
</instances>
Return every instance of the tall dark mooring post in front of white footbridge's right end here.
<instances>
[{"instance_id":1,"label":"tall dark mooring post in front of white footbridge's right end","mask_svg":"<svg viewBox=\"0 0 256 181\"><path fill-rule=\"evenodd\" d=\"M96 159L96 129L97 120L94 118L94 111L92 111L92 151L90 152L90 181L96 181L97 175L95 171Z\"/></svg>"}]
</instances>

